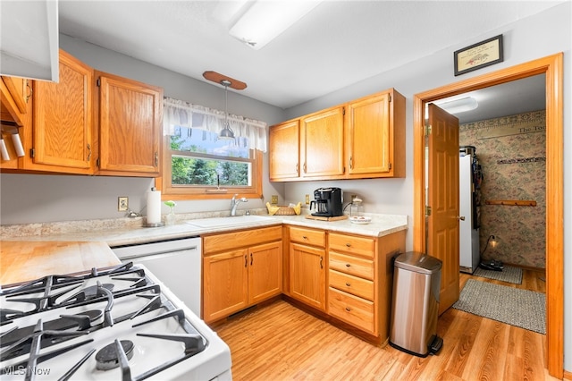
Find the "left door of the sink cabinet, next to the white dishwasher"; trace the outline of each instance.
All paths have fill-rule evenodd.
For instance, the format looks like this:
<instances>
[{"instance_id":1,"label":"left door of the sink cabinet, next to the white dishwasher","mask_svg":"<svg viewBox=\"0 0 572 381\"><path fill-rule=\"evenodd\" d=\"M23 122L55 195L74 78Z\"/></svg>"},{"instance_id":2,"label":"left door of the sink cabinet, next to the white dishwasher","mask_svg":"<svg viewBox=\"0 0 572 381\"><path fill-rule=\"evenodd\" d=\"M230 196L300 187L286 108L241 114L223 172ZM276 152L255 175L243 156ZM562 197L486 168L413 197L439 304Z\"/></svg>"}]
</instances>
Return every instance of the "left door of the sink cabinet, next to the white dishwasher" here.
<instances>
[{"instance_id":1,"label":"left door of the sink cabinet, next to the white dishwasher","mask_svg":"<svg viewBox=\"0 0 572 381\"><path fill-rule=\"evenodd\" d=\"M248 250L203 259L203 318L224 318L248 307Z\"/></svg>"}]
</instances>

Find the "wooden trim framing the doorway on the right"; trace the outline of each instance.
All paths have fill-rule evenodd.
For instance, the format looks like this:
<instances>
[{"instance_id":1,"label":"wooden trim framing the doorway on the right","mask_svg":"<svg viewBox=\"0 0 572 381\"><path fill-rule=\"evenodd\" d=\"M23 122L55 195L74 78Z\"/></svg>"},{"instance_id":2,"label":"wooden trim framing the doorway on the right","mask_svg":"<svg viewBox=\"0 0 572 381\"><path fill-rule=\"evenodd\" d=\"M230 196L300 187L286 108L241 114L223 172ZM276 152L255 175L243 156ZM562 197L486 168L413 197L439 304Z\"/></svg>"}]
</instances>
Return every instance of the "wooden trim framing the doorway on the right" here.
<instances>
[{"instance_id":1,"label":"wooden trim framing the doorway on the right","mask_svg":"<svg viewBox=\"0 0 572 381\"><path fill-rule=\"evenodd\" d=\"M564 374L563 54L416 94L413 101L413 250L425 252L425 104L512 80L546 74L546 366Z\"/></svg>"}]
</instances>

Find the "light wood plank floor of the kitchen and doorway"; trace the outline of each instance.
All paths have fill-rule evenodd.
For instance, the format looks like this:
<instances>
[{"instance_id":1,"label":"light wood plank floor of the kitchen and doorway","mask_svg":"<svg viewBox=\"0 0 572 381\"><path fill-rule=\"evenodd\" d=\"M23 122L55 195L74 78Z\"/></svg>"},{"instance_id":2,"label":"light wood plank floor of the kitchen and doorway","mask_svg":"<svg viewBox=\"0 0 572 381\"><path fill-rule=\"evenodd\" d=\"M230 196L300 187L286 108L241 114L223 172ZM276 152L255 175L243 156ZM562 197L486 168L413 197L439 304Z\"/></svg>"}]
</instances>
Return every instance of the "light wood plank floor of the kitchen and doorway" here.
<instances>
[{"instance_id":1,"label":"light wood plank floor of the kitchen and doorway","mask_svg":"<svg viewBox=\"0 0 572 381\"><path fill-rule=\"evenodd\" d=\"M461 275L461 287L470 277ZM544 275L525 270L523 283L514 286L545 292ZM286 301L231 318L214 330L231 348L237 381L556 379L544 368L543 334L458 309L439 318L442 350L425 359L389 345L375 347Z\"/></svg>"}]
</instances>

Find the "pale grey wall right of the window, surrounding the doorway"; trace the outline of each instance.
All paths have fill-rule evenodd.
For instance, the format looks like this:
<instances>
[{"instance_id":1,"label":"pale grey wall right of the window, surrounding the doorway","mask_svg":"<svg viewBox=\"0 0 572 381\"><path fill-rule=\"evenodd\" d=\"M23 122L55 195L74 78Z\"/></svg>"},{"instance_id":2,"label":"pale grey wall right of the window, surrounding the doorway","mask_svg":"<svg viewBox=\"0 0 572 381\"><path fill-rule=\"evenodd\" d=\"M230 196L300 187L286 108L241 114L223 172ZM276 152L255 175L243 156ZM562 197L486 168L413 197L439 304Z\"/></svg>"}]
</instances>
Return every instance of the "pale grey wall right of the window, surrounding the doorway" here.
<instances>
[{"instance_id":1,"label":"pale grey wall right of the window, surrounding the doorway","mask_svg":"<svg viewBox=\"0 0 572 381\"><path fill-rule=\"evenodd\" d=\"M423 28L426 28L424 26ZM422 28L420 28L422 30ZM475 42L498 34L504 37L504 62L494 64L482 70L455 77L453 72L453 52ZM572 36L572 6L568 2L560 4L543 13L517 21L471 41L459 41L452 46L415 62L405 64L391 72L385 72L369 80L335 91L304 105L287 110L288 118L308 114L325 107L334 106L350 99L363 97L383 89L395 88L407 97L407 178L404 180L368 180L366 182L340 181L327 182L328 186L337 186L343 190L360 190L366 199L366 209L383 213L400 213L413 217L413 97L421 92L436 89L458 80L494 72L502 68L526 63L547 55L564 53L564 304L565 304L565 362L564 368L572 371L572 109L570 107L571 84L570 60ZM324 182L324 184L326 184ZM286 199L299 199L302 193L322 186L322 183L290 183L286 185ZM356 191L357 191L356 190ZM359 193L359 191L357 191ZM374 205L372 201L374 200ZM408 250L412 248L411 229L408 233ZM566 276L568 275L568 276ZM568 323L568 325L567 325Z\"/></svg>"}]
</instances>

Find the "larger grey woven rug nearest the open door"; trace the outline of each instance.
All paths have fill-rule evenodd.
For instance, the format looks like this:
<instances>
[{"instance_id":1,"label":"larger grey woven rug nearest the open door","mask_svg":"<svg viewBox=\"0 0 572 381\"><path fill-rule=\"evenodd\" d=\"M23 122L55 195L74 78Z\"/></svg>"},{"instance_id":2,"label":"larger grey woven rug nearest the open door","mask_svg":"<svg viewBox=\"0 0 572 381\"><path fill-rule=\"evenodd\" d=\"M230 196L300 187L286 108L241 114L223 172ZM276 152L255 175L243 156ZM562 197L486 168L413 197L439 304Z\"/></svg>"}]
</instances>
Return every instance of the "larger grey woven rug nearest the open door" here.
<instances>
[{"instance_id":1,"label":"larger grey woven rug nearest the open door","mask_svg":"<svg viewBox=\"0 0 572 381\"><path fill-rule=\"evenodd\" d=\"M469 279L453 308L546 334L546 299L541 292Z\"/></svg>"}]
</instances>

